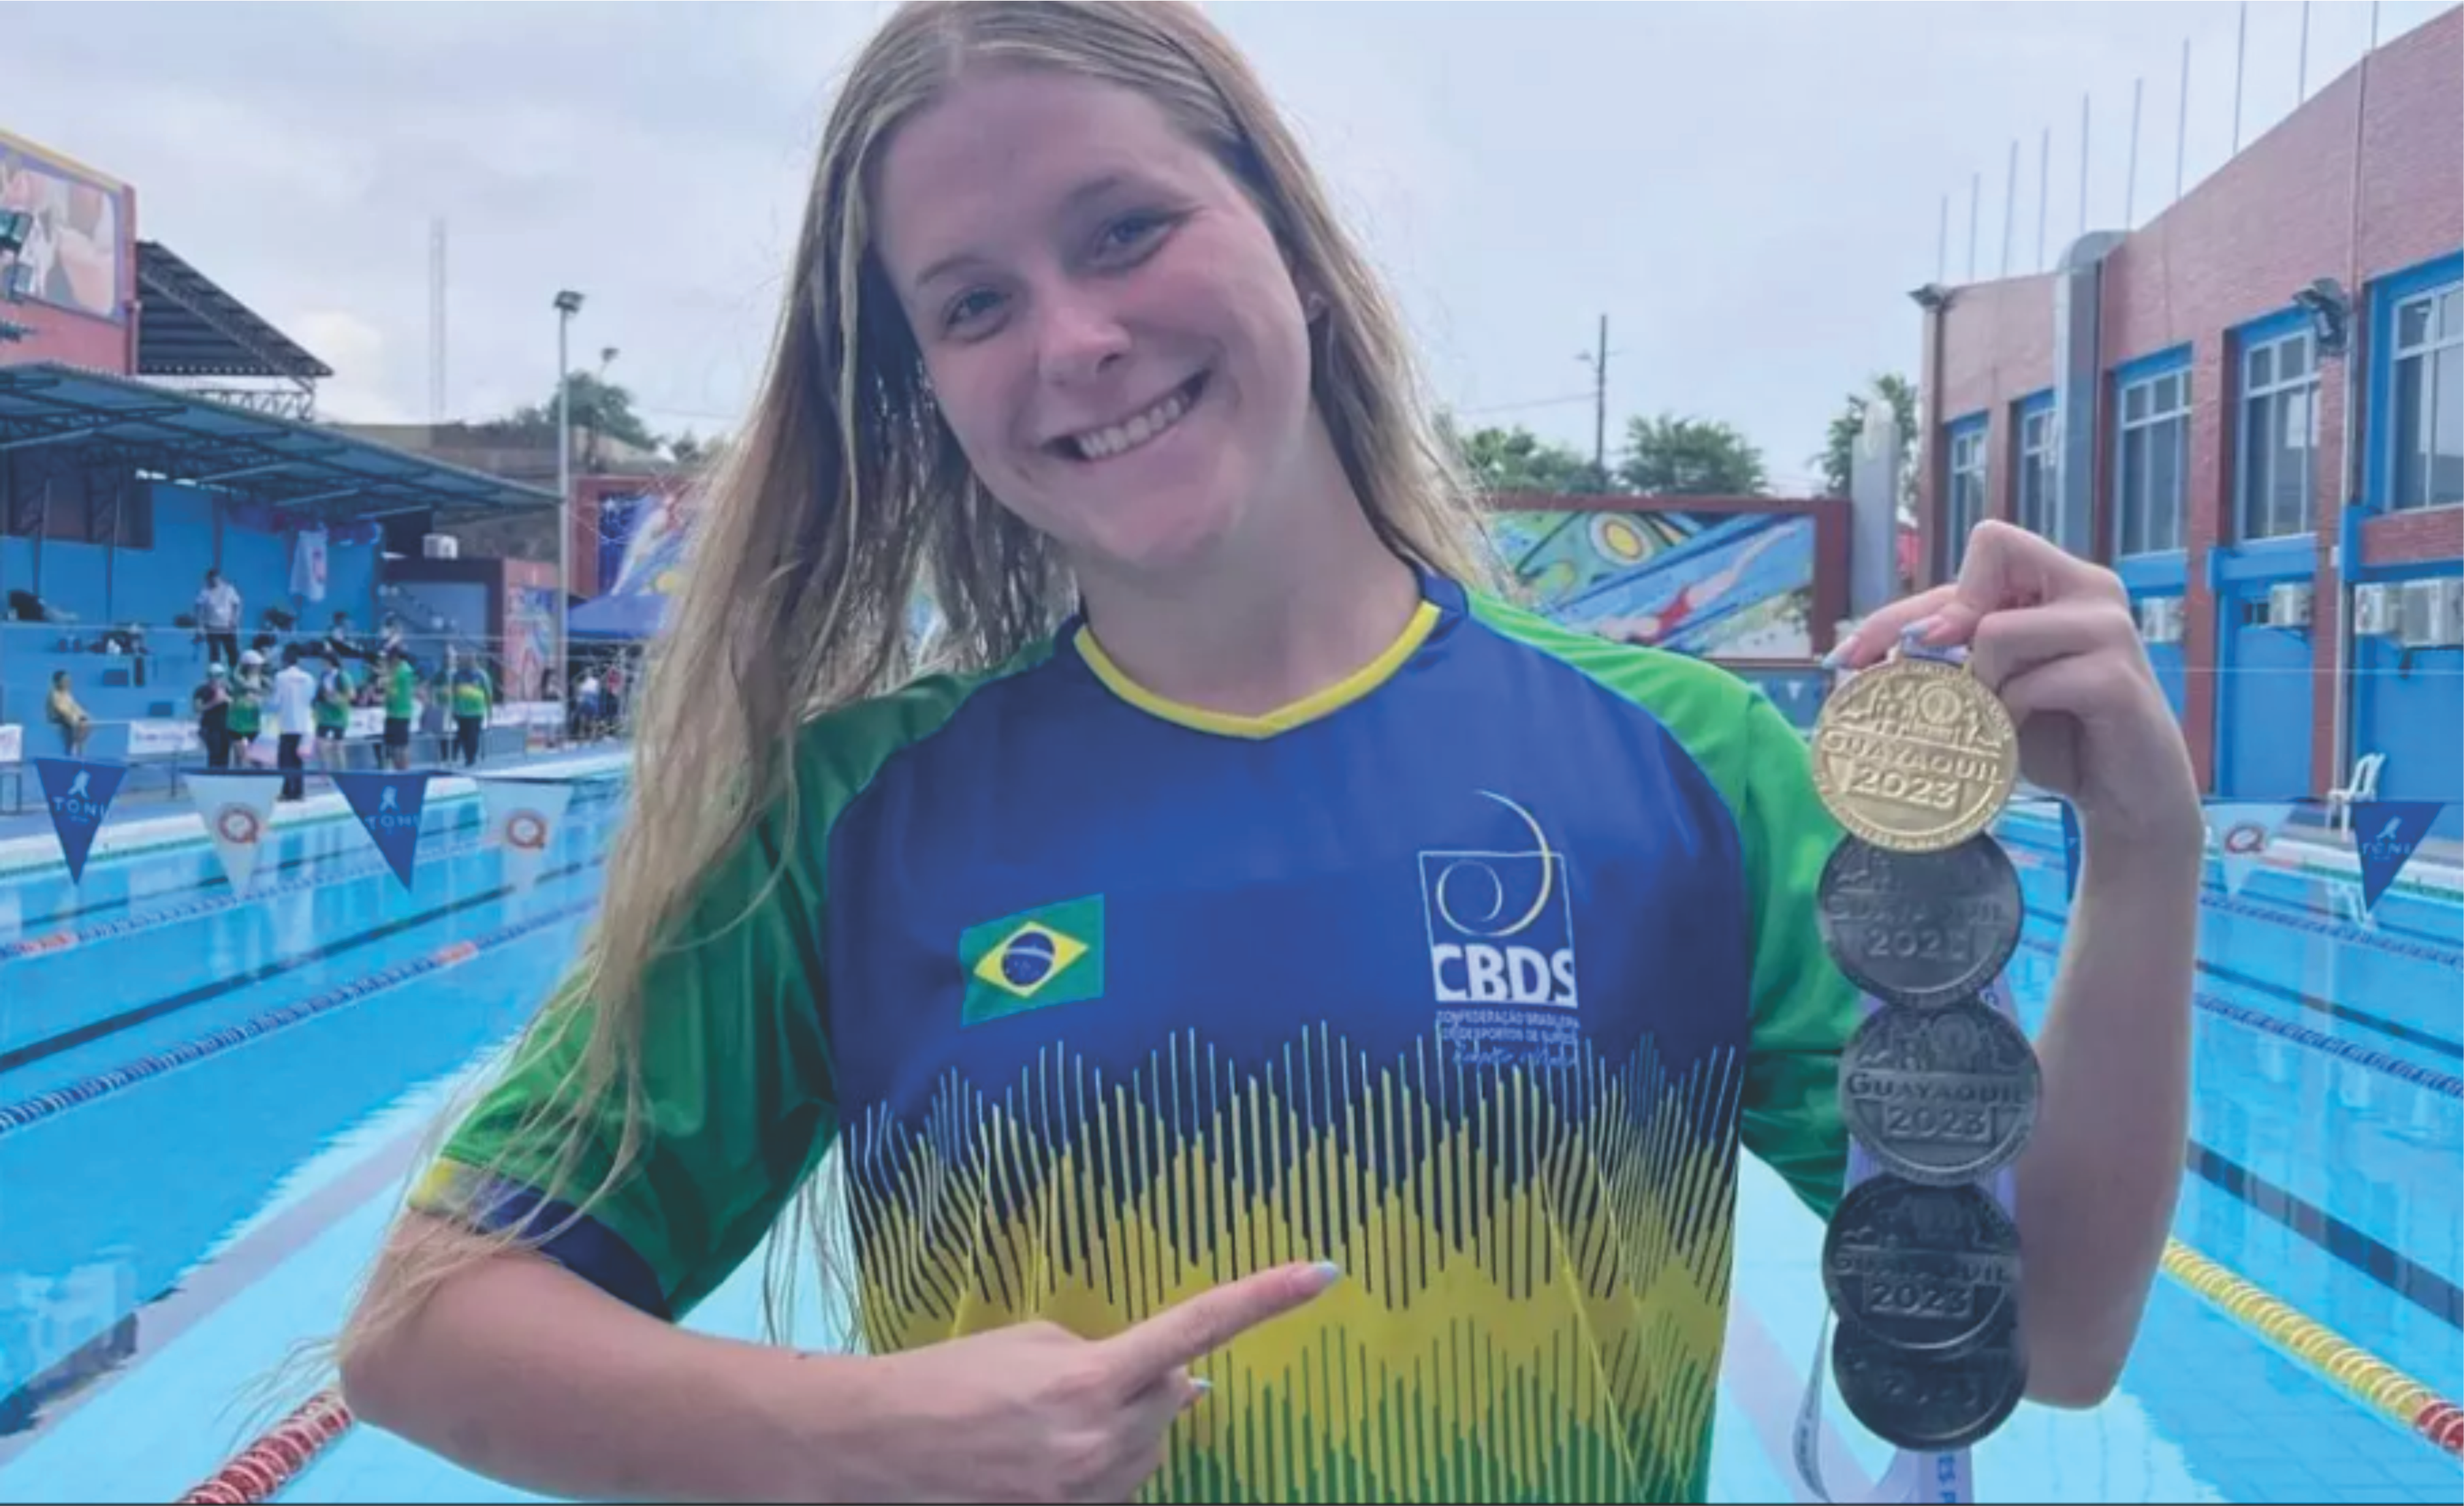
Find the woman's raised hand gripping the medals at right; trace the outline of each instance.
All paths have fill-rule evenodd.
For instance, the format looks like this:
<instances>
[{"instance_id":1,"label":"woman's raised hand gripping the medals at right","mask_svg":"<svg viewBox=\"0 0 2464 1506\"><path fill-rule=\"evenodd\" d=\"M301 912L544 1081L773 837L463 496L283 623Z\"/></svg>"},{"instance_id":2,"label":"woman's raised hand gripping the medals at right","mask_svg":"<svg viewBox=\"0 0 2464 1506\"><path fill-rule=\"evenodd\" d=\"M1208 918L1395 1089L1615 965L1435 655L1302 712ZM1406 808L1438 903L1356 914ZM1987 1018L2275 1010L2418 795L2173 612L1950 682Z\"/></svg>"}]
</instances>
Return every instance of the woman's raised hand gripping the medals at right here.
<instances>
[{"instance_id":1,"label":"woman's raised hand gripping the medals at right","mask_svg":"<svg viewBox=\"0 0 2464 1506\"><path fill-rule=\"evenodd\" d=\"M1959 579L1892 601L1826 663L1880 663L1902 631L1969 651L1969 668L2018 725L2020 774L2080 808L2119 845L2205 843L2198 774L2156 685L2122 579L2053 542L1986 520Z\"/></svg>"}]
</instances>

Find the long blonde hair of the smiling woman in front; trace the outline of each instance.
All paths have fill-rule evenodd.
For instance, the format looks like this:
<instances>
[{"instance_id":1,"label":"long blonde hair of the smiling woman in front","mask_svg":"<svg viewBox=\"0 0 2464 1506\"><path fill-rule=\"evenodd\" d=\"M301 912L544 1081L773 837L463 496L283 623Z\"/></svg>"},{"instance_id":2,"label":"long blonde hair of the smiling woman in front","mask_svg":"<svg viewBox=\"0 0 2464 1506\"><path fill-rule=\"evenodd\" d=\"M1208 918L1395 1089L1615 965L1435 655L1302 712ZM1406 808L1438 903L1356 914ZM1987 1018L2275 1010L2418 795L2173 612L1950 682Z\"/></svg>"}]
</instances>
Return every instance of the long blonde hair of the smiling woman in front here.
<instances>
[{"instance_id":1,"label":"long blonde hair of the smiling woman in front","mask_svg":"<svg viewBox=\"0 0 2464 1506\"><path fill-rule=\"evenodd\" d=\"M798 730L919 668L907 641L914 592L929 584L944 619L934 668L954 670L1008 661L1077 604L1057 550L986 493L934 412L922 355L872 254L867 187L885 143L971 62L1136 89L1212 150L1294 274L1326 298L1311 397L1370 525L1439 574L1498 579L1478 498L1422 404L1400 313L1257 76L1193 5L899 7L830 108L769 372L700 508L653 653L636 769L655 776L631 781L604 910L569 983L591 1001L567 1018L589 1030L586 1050L557 1104L525 1126L564 1149L569 1173L621 1094L623 1134L599 1188L584 1198L549 1188L569 1205L589 1208L641 1146L646 969L660 949L690 944L673 934L687 900L756 813L779 811L793 826ZM542 1011L517 1050L545 1048L549 1018ZM803 1188L808 1230L823 1227L821 1181ZM397 1230L342 1356L510 1242ZM779 1324L771 1304L774 1338Z\"/></svg>"}]
</instances>

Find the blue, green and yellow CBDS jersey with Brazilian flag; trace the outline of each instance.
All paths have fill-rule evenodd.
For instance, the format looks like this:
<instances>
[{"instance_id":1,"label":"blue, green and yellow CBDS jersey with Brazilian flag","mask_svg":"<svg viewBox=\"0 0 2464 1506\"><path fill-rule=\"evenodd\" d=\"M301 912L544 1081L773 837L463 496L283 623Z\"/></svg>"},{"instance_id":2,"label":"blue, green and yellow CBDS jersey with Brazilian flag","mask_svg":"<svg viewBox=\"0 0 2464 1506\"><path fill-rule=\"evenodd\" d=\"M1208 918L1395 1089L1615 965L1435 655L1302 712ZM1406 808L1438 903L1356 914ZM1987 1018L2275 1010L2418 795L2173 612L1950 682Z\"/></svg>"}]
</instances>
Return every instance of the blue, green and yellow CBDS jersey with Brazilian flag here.
<instances>
[{"instance_id":1,"label":"blue, green and yellow CBDS jersey with Brazilian flag","mask_svg":"<svg viewBox=\"0 0 2464 1506\"><path fill-rule=\"evenodd\" d=\"M1838 828L1757 690L1427 579L1274 715L1069 624L816 720L793 771L653 964L633 1168L574 1220L616 1112L579 1181L522 1129L567 988L419 1205L567 1225L675 1319L838 1151L875 1353L1333 1260L1200 1363L1148 1499L1703 1499L1737 1154L1828 1215L1858 1018Z\"/></svg>"}]
</instances>

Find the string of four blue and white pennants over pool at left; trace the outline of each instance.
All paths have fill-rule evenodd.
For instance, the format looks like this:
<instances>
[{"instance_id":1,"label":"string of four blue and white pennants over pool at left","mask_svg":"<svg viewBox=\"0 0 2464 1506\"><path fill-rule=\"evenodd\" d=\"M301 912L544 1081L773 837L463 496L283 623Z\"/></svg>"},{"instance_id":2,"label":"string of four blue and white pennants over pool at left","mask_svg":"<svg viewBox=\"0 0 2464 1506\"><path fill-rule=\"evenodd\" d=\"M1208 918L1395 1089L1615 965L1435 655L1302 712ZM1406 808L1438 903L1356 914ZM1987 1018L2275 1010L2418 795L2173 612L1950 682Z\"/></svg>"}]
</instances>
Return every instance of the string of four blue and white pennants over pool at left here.
<instances>
[{"instance_id":1,"label":"string of four blue and white pennants over pool at left","mask_svg":"<svg viewBox=\"0 0 2464 1506\"><path fill-rule=\"evenodd\" d=\"M128 779L128 764L101 759L30 759L42 786L42 804L52 816L52 836L69 868L69 882L86 882L86 863L111 806ZM323 774L342 794L342 804L357 816L367 841L384 858L402 887L414 887L419 865L419 836L426 823L429 781L439 774L419 771L350 771L328 769ZM246 892L256 877L266 836L276 821L276 796L283 786L278 769L180 769L187 784L190 806L214 843L214 858L234 892ZM572 784L564 779L500 779L463 776L478 786L488 816L488 843L503 848L505 877L517 890L530 890L540 880L540 865L572 804ZM310 811L310 818L315 811Z\"/></svg>"}]
</instances>

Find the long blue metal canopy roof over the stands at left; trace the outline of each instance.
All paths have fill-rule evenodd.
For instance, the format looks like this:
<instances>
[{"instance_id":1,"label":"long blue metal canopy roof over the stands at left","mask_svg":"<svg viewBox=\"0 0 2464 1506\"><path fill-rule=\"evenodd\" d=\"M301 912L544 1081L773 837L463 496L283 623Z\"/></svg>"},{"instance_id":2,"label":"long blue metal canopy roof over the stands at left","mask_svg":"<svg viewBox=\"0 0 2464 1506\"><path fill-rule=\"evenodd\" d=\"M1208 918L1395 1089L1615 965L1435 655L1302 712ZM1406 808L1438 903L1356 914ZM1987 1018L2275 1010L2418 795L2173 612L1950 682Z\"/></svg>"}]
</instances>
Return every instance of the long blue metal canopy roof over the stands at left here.
<instances>
[{"instance_id":1,"label":"long blue metal canopy roof over the stands at left","mask_svg":"<svg viewBox=\"0 0 2464 1506\"><path fill-rule=\"evenodd\" d=\"M0 365L0 454L52 444L328 520L424 510L468 520L557 505L552 490L338 429L54 362Z\"/></svg>"}]
</instances>

